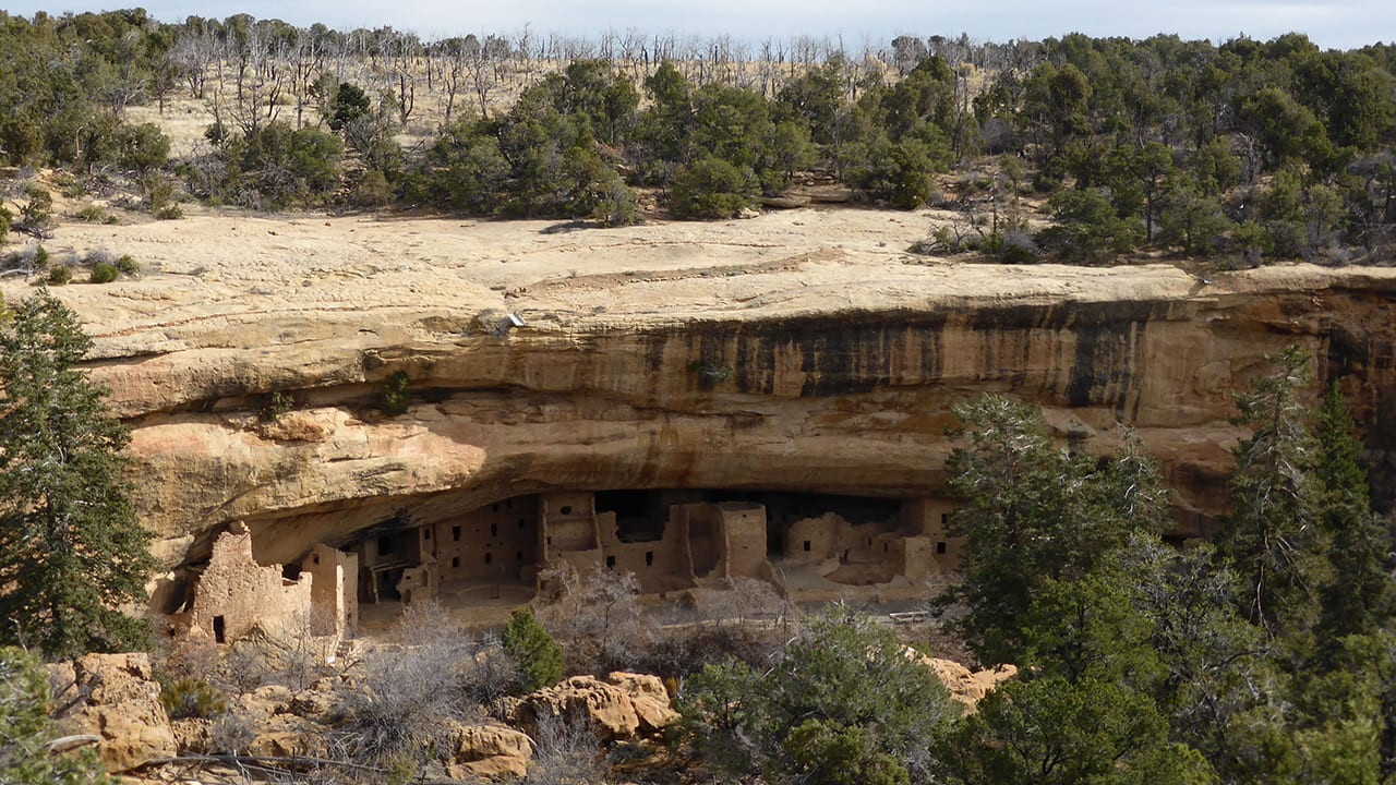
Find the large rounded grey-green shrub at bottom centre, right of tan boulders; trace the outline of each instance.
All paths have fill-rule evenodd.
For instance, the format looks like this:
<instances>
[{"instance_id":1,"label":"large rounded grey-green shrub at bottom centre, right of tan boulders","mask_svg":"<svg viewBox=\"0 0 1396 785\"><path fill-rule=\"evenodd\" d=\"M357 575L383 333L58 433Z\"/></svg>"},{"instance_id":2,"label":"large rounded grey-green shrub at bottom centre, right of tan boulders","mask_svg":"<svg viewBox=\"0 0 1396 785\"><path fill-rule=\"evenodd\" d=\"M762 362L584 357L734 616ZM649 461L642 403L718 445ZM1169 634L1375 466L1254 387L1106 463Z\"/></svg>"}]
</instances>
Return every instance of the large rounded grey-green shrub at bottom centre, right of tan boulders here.
<instances>
[{"instance_id":1,"label":"large rounded grey-green shrub at bottom centre, right of tan boulders","mask_svg":"<svg viewBox=\"0 0 1396 785\"><path fill-rule=\"evenodd\" d=\"M891 630L842 608L815 616L768 668L704 666L678 710L706 760L772 784L926 781L931 744L959 714Z\"/></svg>"}]
</instances>

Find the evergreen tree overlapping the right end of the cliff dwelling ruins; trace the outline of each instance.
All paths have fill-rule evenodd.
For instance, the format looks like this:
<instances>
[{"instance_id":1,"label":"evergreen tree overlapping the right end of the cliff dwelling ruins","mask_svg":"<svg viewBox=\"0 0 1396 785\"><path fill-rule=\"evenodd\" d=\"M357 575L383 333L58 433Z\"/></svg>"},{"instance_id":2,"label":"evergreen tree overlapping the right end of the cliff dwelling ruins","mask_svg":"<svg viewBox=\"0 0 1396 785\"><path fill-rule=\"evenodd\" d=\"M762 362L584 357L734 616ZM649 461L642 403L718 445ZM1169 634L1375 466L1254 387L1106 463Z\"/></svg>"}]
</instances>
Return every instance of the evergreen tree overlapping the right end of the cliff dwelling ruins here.
<instances>
[{"instance_id":1,"label":"evergreen tree overlapping the right end of the cliff dwelling ruins","mask_svg":"<svg viewBox=\"0 0 1396 785\"><path fill-rule=\"evenodd\" d=\"M1079 580L1132 534L1160 531L1166 496L1134 436L1097 461L1057 448L1030 405L984 395L955 413L966 446L946 471L966 503L951 527L969 548L944 601L966 605L956 626L981 659L1018 662L1022 622L1044 582Z\"/></svg>"}]
</instances>

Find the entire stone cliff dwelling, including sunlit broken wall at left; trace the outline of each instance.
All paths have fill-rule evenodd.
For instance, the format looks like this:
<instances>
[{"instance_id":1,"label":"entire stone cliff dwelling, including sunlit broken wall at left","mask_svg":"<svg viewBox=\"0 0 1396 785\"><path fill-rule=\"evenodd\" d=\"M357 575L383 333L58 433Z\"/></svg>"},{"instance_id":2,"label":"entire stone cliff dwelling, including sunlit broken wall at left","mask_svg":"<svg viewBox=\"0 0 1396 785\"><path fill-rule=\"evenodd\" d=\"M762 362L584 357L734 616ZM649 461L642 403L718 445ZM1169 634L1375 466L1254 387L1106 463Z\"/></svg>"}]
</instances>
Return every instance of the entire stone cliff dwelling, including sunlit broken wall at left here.
<instances>
[{"instance_id":1,"label":"entire stone cliff dwelling, including sunlit broken wall at left","mask_svg":"<svg viewBox=\"0 0 1396 785\"><path fill-rule=\"evenodd\" d=\"M240 522L207 563L163 594L177 598L176 634L232 643L253 629L300 624L352 637L359 610L394 613L440 599L448 608L533 598L543 567L632 573L646 595L758 578L797 601L905 599L955 570L948 503L782 492L550 492L416 524L401 511L339 548L320 543L286 566L253 557Z\"/></svg>"}]
</instances>

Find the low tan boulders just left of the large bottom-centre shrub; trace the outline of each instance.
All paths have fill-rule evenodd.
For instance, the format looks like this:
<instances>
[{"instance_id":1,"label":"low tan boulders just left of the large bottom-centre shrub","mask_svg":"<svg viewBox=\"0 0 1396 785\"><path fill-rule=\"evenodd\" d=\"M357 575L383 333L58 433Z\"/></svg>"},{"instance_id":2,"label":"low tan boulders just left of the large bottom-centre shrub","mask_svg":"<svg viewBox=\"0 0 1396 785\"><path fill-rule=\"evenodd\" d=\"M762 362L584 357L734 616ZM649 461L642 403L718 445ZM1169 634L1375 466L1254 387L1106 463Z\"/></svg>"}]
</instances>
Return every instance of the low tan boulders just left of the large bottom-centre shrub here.
<instances>
[{"instance_id":1,"label":"low tan boulders just left of the large bottom-centre shrub","mask_svg":"<svg viewBox=\"0 0 1396 785\"><path fill-rule=\"evenodd\" d=\"M658 733L677 712L658 676L617 672L604 682L572 676L529 694L514 710L515 724L522 728L537 728L542 717L585 717L603 739L617 740Z\"/></svg>"}]
</instances>

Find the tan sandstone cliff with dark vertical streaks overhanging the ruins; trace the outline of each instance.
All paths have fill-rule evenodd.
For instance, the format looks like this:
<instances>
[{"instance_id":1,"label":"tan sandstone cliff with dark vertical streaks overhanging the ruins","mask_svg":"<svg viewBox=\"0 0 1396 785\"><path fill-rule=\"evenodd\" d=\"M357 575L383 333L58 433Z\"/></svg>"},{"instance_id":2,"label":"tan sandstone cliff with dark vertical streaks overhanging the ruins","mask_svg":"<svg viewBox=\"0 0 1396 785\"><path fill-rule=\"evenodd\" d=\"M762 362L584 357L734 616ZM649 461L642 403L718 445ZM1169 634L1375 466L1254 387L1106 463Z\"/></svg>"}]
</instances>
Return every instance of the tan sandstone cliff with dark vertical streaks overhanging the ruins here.
<instances>
[{"instance_id":1,"label":"tan sandstone cliff with dark vertical streaks overhanging the ruins","mask_svg":"<svg viewBox=\"0 0 1396 785\"><path fill-rule=\"evenodd\" d=\"M289 562L401 511L547 489L934 496L949 408L987 390L1100 450L1115 422L1136 426L1188 532L1224 490L1230 392L1291 342L1342 380L1390 487L1396 271L1203 279L903 254L934 219L565 232L198 215L64 228L49 247L147 267L57 293L96 338L89 366L134 429L137 503L170 564L233 520L260 560ZM387 416L398 372L409 406ZM274 392L290 411L260 418Z\"/></svg>"}]
</instances>

